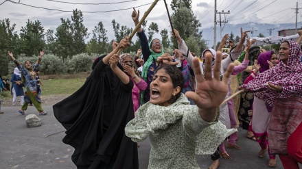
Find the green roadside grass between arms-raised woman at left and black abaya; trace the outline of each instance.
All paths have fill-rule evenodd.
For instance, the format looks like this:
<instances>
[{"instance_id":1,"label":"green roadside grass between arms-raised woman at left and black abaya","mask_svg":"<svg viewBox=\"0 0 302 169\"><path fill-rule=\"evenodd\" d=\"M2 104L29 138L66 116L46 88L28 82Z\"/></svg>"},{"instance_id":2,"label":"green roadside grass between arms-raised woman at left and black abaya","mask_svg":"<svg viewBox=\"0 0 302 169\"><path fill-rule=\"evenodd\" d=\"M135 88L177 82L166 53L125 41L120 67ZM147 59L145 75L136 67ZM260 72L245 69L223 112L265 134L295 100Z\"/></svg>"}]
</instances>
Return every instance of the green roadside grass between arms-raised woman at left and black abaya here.
<instances>
[{"instance_id":1,"label":"green roadside grass between arms-raised woman at left and black abaya","mask_svg":"<svg viewBox=\"0 0 302 169\"><path fill-rule=\"evenodd\" d=\"M83 86L86 78L90 73L78 73L75 75L41 75L40 81L43 83L43 96L57 95L57 94L73 94L80 87ZM10 91L1 92L1 97L12 98Z\"/></svg>"}]
</instances>

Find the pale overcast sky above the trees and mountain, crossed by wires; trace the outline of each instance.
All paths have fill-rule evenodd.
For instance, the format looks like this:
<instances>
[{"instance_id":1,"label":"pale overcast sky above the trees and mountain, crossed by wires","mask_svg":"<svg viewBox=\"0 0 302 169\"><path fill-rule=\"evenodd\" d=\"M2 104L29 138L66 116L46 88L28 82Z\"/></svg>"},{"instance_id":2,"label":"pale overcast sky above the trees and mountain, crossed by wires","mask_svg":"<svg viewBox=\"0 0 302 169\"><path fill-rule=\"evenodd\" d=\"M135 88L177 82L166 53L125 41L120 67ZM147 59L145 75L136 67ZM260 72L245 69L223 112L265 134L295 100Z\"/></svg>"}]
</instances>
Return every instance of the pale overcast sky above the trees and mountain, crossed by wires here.
<instances>
[{"instance_id":1,"label":"pale overcast sky above the trees and mountain, crossed by wires","mask_svg":"<svg viewBox=\"0 0 302 169\"><path fill-rule=\"evenodd\" d=\"M5 0L0 0L0 4ZM18 2L17 0L14 0ZM58 2L60 1L60 2ZM128 1L128 2L125 2ZM227 12L230 10L230 14L226 14L226 18L222 15L222 21L229 21L231 24L239 23L292 23L296 22L295 10L298 0L217 0L218 12ZM88 5L88 4L69 4L62 2L72 3L115 3L108 5ZM119 3L124 2L124 3ZM83 12L84 25L89 29L91 33L95 25L102 21L107 30L107 36L109 39L114 38L113 27L111 21L115 19L120 25L126 25L127 27L134 27L132 22L131 14L132 9L121 10L125 8L136 8L141 12L140 16L143 16L143 12L146 12L152 3L152 0L22 0L20 4L5 1L0 5L0 19L9 18L11 23L16 23L16 31L19 31L21 27L25 26L27 19L30 21L39 20L45 30L54 29L60 25L60 18L71 18L72 12L60 12L54 10L45 10L40 8L49 8L55 10L72 11L78 8ZM170 14L172 10L170 8L171 0L167 0ZM213 0L193 0L192 10L196 14L200 23L202 24L201 29L213 27L214 21L214 2ZM299 7L302 8L302 2L299 0ZM26 4L26 5L22 5ZM40 8L33 8L27 5L32 5ZM110 10L121 10L118 12L104 12ZM85 13L85 12L102 12L102 13ZM302 9L299 10L298 22L302 21ZM217 15L219 19L219 15ZM141 17L140 17L141 18ZM217 19L217 20L218 20ZM163 0L160 0L152 12L149 14L148 24L155 22L159 25L159 30L168 29L170 30L170 23L168 20L167 12L165 10L165 4ZM183 21L185 22L185 21ZM225 25L224 29L227 29L228 24ZM293 26L294 27L294 26ZM92 34L90 35L92 37Z\"/></svg>"}]
</instances>

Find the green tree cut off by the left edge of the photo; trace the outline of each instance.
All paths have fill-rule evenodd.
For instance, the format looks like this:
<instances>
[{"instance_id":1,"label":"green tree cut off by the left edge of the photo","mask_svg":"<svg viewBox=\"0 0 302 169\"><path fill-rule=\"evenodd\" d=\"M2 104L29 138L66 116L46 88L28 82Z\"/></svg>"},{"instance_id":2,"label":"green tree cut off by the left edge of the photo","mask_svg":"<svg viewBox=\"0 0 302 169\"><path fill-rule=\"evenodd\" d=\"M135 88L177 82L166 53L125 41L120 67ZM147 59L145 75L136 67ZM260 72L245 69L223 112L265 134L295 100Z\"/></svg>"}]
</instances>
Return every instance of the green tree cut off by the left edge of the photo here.
<instances>
[{"instance_id":1,"label":"green tree cut off by the left edge of the photo","mask_svg":"<svg viewBox=\"0 0 302 169\"><path fill-rule=\"evenodd\" d=\"M19 54L19 36L14 30L16 24L10 25L10 20L5 18L0 21L0 73L8 75L8 51Z\"/></svg>"}]
</instances>

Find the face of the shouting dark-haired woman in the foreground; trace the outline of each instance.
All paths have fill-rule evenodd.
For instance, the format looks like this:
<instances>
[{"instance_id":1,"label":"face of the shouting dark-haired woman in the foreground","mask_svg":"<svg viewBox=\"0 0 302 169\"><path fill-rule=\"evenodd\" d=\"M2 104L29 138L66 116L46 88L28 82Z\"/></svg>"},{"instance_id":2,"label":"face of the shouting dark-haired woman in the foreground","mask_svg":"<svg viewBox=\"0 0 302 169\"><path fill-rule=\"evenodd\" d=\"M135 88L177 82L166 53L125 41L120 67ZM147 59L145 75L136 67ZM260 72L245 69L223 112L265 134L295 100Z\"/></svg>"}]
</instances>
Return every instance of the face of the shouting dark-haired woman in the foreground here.
<instances>
[{"instance_id":1,"label":"face of the shouting dark-haired woman in the foreground","mask_svg":"<svg viewBox=\"0 0 302 169\"><path fill-rule=\"evenodd\" d=\"M150 103L161 106L171 105L168 101L178 92L178 87L173 87L170 75L163 68L157 70L150 83Z\"/></svg>"}]
</instances>

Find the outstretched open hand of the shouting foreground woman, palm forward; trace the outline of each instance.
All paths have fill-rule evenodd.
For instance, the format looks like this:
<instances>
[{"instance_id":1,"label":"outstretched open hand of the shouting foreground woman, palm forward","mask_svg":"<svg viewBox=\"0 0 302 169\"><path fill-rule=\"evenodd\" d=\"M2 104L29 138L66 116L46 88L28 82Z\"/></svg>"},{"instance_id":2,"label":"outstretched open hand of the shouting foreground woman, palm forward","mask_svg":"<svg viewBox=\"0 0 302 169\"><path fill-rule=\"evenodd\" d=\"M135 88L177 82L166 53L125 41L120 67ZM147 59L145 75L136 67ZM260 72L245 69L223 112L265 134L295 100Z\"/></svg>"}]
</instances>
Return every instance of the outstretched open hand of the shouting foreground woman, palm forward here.
<instances>
[{"instance_id":1,"label":"outstretched open hand of the shouting foreground woman, palm forward","mask_svg":"<svg viewBox=\"0 0 302 169\"><path fill-rule=\"evenodd\" d=\"M216 53L216 62L212 70L211 53L205 53L205 79L202 77L200 63L197 57L193 58L193 68L196 78L196 92L186 92L187 98L192 99L199 108L199 114L203 120L211 122L216 117L217 109L227 96L228 81L233 71L234 64L230 64L224 73L222 81L220 81L221 55ZM213 77L212 77L213 71Z\"/></svg>"}]
</instances>

